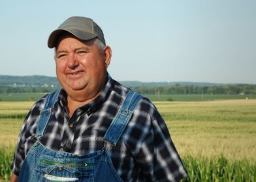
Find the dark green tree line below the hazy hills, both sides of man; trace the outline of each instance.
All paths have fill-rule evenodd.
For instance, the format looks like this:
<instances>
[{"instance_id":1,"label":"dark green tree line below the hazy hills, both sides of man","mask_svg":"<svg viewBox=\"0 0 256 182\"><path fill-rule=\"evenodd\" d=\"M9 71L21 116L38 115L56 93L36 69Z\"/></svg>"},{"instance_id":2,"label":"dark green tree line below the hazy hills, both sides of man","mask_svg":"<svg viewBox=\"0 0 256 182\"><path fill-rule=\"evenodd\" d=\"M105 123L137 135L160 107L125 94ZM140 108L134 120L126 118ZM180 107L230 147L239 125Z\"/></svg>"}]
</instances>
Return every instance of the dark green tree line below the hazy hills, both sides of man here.
<instances>
[{"instance_id":1,"label":"dark green tree line below the hazy hills, both sides of man","mask_svg":"<svg viewBox=\"0 0 256 182\"><path fill-rule=\"evenodd\" d=\"M0 86L0 94L53 92L60 86ZM256 94L256 85L172 85L172 86L131 86L140 94Z\"/></svg>"}]
</instances>

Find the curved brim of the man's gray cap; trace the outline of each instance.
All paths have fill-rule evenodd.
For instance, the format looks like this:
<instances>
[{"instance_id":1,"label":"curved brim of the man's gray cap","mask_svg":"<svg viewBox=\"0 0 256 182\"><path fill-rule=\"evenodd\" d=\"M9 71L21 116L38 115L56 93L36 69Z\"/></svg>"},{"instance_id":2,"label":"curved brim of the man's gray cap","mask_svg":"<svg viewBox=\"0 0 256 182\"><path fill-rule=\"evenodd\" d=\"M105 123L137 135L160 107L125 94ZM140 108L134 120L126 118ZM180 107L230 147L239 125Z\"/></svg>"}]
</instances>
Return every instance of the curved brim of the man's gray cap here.
<instances>
[{"instance_id":1,"label":"curved brim of the man's gray cap","mask_svg":"<svg viewBox=\"0 0 256 182\"><path fill-rule=\"evenodd\" d=\"M72 35L79 38L80 40L91 40L92 38L97 37L97 35L95 35L95 34L91 34L89 32L81 31L78 29L57 29L56 31L53 31L48 38L48 47L49 48L56 47L57 40L58 40L59 34L61 34L61 32L69 32Z\"/></svg>"}]
</instances>

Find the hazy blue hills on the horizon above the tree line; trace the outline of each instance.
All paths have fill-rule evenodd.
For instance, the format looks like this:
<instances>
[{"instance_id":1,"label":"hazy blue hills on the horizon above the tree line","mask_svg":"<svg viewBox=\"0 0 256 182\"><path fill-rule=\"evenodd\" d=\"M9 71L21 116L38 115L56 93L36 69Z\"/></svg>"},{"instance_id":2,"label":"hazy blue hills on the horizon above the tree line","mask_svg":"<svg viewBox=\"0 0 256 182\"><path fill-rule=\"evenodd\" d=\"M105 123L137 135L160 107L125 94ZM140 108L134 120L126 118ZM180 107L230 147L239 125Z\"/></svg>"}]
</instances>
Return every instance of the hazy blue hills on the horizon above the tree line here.
<instances>
[{"instance_id":1,"label":"hazy blue hills on the horizon above the tree line","mask_svg":"<svg viewBox=\"0 0 256 182\"><path fill-rule=\"evenodd\" d=\"M217 83L199 83L199 82L140 82L140 81L120 81L121 84L128 87L136 86L172 86L172 85L194 85L194 86L214 86L223 85ZM59 87L56 77L48 77L42 75L31 76L10 76L0 75L0 86L54 86Z\"/></svg>"}]
</instances>

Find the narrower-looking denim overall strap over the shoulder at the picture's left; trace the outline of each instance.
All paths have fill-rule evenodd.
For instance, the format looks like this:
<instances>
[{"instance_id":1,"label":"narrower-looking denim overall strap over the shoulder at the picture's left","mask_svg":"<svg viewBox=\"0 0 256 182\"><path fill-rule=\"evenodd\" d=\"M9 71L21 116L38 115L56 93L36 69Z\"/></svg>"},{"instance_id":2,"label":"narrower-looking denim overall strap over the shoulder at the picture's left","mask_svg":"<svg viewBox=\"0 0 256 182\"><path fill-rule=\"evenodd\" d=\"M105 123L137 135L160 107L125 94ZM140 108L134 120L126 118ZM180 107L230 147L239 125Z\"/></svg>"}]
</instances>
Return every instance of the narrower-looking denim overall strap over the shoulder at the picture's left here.
<instances>
[{"instance_id":1,"label":"narrower-looking denim overall strap over the shoulder at the picture's left","mask_svg":"<svg viewBox=\"0 0 256 182\"><path fill-rule=\"evenodd\" d=\"M55 92L48 94L46 98L44 109L40 111L40 116L39 116L40 118L39 118L39 123L37 125L37 133L36 133L37 138L40 138L40 136L44 135L44 131L52 115L52 107L54 107L54 104L57 101L57 96L59 96L59 91L60 90L57 90Z\"/></svg>"}]
</instances>

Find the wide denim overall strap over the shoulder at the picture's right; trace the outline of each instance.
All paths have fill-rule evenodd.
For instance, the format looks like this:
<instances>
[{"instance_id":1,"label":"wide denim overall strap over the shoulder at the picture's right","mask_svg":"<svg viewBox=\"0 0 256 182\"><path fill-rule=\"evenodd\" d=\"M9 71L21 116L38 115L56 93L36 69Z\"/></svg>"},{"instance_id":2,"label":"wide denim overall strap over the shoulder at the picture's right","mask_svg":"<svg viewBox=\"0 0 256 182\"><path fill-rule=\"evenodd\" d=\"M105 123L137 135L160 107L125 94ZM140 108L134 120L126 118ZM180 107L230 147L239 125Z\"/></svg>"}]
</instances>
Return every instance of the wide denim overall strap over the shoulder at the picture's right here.
<instances>
[{"instance_id":1,"label":"wide denim overall strap over the shoulder at the picture's right","mask_svg":"<svg viewBox=\"0 0 256 182\"><path fill-rule=\"evenodd\" d=\"M136 108L138 101L142 96L132 90L128 92L123 101L123 105L121 105L120 109L118 109L118 114L116 114L114 120L108 127L106 134L104 135L104 140L110 142L113 145L118 143L121 135L123 135L123 131L125 127L129 123L133 111Z\"/></svg>"}]
</instances>

